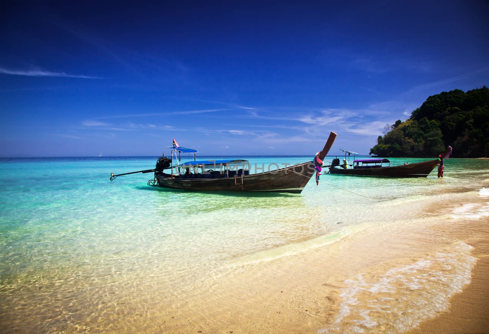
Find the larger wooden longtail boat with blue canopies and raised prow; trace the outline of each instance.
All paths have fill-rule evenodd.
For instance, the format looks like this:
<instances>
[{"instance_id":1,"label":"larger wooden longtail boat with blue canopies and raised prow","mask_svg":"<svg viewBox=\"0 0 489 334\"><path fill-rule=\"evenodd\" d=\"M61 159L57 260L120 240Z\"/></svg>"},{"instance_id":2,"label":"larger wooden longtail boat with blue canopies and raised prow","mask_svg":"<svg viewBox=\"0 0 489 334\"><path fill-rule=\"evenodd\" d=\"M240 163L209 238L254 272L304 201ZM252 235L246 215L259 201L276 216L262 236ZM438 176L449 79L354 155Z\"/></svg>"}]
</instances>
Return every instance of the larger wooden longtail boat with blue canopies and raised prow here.
<instances>
[{"instance_id":1,"label":"larger wooden longtail boat with blue canopies and raised prow","mask_svg":"<svg viewBox=\"0 0 489 334\"><path fill-rule=\"evenodd\" d=\"M335 139L336 134L331 132L319 158L326 157ZM195 160L196 150L178 146L168 148L172 150L172 158L158 158L155 169L111 174L111 180L120 175L155 172L154 179L149 180L148 184L170 189L300 194L315 173L314 163L307 161L274 171L250 174L247 160ZM179 164L177 153L194 154L194 161Z\"/></svg>"}]
</instances>

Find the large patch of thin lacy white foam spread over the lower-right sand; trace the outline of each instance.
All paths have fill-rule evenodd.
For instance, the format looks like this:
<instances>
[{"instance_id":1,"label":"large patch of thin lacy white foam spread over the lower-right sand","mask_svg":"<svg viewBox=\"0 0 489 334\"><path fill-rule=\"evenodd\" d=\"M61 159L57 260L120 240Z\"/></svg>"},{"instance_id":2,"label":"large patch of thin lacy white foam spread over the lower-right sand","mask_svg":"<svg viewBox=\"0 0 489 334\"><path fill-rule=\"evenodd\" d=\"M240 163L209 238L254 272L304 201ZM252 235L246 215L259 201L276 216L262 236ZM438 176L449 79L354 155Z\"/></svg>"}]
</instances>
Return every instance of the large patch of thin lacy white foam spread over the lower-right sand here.
<instances>
[{"instance_id":1,"label":"large patch of thin lacy white foam spread over the lower-right sand","mask_svg":"<svg viewBox=\"0 0 489 334\"><path fill-rule=\"evenodd\" d=\"M416 263L346 280L333 325L318 333L400 333L434 317L470 282L471 249L458 241Z\"/></svg>"}]
</instances>

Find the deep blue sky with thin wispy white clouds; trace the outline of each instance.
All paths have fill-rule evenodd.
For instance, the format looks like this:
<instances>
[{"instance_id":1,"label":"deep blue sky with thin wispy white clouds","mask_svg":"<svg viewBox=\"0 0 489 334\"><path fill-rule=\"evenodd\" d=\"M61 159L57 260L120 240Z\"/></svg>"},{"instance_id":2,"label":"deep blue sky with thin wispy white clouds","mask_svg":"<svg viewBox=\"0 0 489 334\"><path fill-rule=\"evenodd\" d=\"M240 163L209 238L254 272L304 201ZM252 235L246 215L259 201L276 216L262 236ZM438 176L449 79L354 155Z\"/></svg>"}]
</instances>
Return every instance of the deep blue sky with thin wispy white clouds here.
<instances>
[{"instance_id":1,"label":"deep blue sky with thin wispy white clouds","mask_svg":"<svg viewBox=\"0 0 489 334\"><path fill-rule=\"evenodd\" d=\"M430 95L489 85L489 4L0 5L0 156L368 154Z\"/></svg>"}]
</instances>

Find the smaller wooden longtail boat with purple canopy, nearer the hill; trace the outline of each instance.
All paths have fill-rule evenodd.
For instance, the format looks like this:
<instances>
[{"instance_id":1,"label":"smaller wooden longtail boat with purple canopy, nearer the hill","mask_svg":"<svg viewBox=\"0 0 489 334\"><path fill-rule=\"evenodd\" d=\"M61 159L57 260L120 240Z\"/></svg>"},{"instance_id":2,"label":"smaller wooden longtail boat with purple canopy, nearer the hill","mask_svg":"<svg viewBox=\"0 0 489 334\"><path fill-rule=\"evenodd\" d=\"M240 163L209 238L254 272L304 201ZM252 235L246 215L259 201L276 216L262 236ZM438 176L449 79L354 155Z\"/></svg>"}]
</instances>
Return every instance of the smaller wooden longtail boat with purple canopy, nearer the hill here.
<instances>
[{"instance_id":1,"label":"smaller wooden longtail boat with purple canopy, nearer the hill","mask_svg":"<svg viewBox=\"0 0 489 334\"><path fill-rule=\"evenodd\" d=\"M448 157L451 150L452 148L448 146L445 153L441 155L441 158ZM383 166L383 163L389 163L389 166ZM440 160L435 159L400 166L390 166L390 161L385 158L358 159L353 161L353 168L342 168L332 165L329 167L329 174L375 177L427 177L439 163Z\"/></svg>"}]
</instances>

